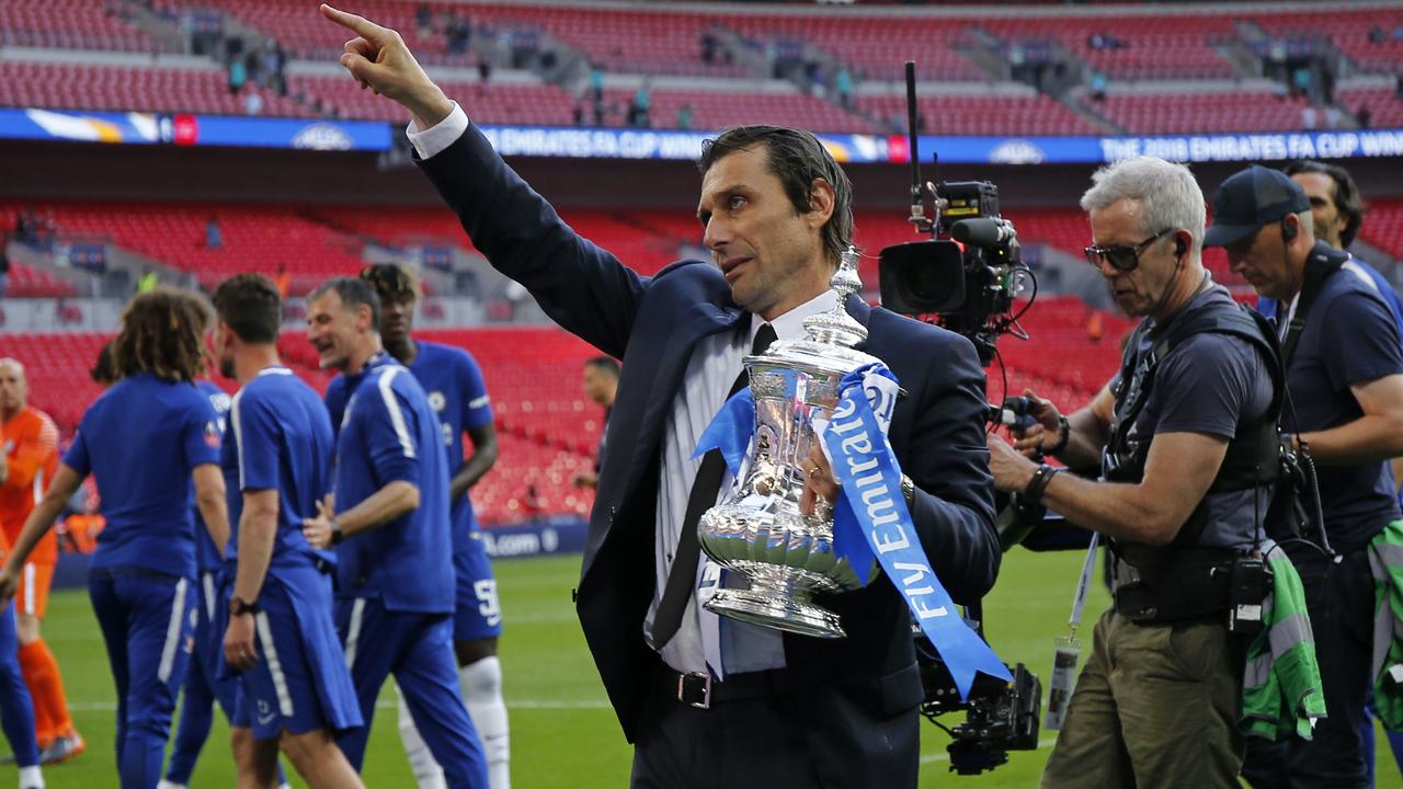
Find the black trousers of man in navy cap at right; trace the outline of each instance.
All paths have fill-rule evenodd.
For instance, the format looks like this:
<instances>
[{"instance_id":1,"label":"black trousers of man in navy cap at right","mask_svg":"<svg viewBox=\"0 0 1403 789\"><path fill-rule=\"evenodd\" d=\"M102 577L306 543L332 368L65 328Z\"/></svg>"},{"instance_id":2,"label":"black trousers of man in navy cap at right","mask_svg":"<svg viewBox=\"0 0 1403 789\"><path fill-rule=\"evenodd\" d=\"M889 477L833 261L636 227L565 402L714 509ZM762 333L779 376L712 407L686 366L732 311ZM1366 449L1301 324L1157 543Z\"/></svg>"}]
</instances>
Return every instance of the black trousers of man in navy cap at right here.
<instances>
[{"instance_id":1,"label":"black trousers of man in navy cap at right","mask_svg":"<svg viewBox=\"0 0 1403 789\"><path fill-rule=\"evenodd\" d=\"M1292 556L1295 559L1295 556ZM1372 678L1374 578L1368 548L1338 564L1301 562L1301 581L1315 633L1316 660L1329 717L1315 737L1284 743L1247 738L1242 775L1256 789L1354 789L1369 786L1360 726Z\"/></svg>"}]
</instances>

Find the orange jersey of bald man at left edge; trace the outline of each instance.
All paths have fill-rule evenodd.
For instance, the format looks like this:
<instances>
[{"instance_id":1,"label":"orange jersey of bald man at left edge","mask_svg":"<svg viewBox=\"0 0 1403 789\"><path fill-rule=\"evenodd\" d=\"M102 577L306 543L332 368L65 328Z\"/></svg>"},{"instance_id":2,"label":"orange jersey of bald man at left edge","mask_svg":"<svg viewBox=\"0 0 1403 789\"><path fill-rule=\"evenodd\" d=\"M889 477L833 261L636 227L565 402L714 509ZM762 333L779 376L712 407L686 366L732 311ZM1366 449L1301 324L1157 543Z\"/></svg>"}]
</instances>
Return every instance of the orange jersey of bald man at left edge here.
<instances>
[{"instance_id":1,"label":"orange jersey of bald man at left edge","mask_svg":"<svg viewBox=\"0 0 1403 789\"><path fill-rule=\"evenodd\" d=\"M14 545L34 505L43 498L49 482L59 470L59 428L49 414L24 409L0 425L0 449L10 475L0 486L0 526L6 542ZM58 562L59 543L53 529L39 541L29 562Z\"/></svg>"}]
</instances>

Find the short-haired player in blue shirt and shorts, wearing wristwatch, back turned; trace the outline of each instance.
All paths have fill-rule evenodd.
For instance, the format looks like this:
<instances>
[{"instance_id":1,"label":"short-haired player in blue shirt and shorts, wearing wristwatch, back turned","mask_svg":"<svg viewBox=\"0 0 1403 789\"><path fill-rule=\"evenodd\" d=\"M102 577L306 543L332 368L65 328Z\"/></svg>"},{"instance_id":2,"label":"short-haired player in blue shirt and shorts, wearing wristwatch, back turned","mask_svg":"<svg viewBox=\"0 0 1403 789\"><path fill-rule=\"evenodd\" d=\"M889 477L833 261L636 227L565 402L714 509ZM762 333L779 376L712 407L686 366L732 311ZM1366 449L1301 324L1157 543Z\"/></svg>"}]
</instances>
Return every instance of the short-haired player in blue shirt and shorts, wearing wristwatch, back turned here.
<instances>
[{"instance_id":1,"label":"short-haired player in blue shirt and shorts, wearing wristwatch, back turned","mask_svg":"<svg viewBox=\"0 0 1403 789\"><path fill-rule=\"evenodd\" d=\"M281 744L314 789L359 788L335 744L361 729L331 621L335 557L302 532L331 490L331 420L317 393L278 361L282 302L272 281L240 274L213 300L215 352L240 383L222 462L234 525L223 657L239 671L239 783L272 786Z\"/></svg>"}]
</instances>

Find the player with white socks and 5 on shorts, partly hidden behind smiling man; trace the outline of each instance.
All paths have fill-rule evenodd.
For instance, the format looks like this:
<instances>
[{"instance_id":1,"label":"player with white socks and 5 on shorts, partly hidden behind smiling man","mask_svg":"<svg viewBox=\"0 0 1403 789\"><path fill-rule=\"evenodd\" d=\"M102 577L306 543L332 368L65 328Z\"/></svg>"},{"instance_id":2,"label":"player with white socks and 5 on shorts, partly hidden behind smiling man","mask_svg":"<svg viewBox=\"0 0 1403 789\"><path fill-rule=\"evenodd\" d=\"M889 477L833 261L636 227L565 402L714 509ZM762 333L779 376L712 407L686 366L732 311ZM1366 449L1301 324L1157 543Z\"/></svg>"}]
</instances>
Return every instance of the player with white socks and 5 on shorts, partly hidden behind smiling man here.
<instances>
[{"instance_id":1,"label":"player with white socks and 5 on shorts, partly hidden behind smiling man","mask_svg":"<svg viewBox=\"0 0 1403 789\"><path fill-rule=\"evenodd\" d=\"M502 702L502 667L497 658L497 639L502 633L502 614L497 601L497 580L487 557L483 533L473 515L469 489L497 462L497 428L492 406L477 361L462 350L425 343L411 336L414 307L419 286L412 274L394 264L369 265L361 272L380 298L380 341L400 364L410 368L428 393L429 406L443 430L448 451L449 500L452 503L453 574L456 611L453 612L453 651L467 713L477 726L487 751L487 778L491 789L509 789L506 705ZM327 386L327 407L333 423L345 410L345 378ZM463 458L463 432L473 442L473 455ZM443 786L443 771L434 761L428 745L414 726L404 696L400 696L400 738L419 789Z\"/></svg>"}]
</instances>

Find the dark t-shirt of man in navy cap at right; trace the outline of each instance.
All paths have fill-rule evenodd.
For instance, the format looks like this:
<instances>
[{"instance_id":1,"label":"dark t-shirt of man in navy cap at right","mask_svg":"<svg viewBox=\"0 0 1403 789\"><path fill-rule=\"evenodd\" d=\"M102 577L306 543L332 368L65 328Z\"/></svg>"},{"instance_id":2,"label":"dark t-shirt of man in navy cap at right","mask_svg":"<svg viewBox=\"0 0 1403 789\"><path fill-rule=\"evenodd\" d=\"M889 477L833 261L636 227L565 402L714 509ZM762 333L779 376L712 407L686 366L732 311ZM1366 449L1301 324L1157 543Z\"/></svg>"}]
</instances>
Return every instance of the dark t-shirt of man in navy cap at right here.
<instances>
[{"instance_id":1,"label":"dark t-shirt of man in navy cap at right","mask_svg":"<svg viewBox=\"0 0 1403 789\"><path fill-rule=\"evenodd\" d=\"M1403 348L1389 307L1350 272L1324 279L1287 364L1287 387L1302 432L1330 430L1364 416L1350 386L1403 373ZM1291 409L1284 423L1295 431ZM1331 548L1350 552L1399 518L1386 462L1316 465L1320 508Z\"/></svg>"}]
</instances>

